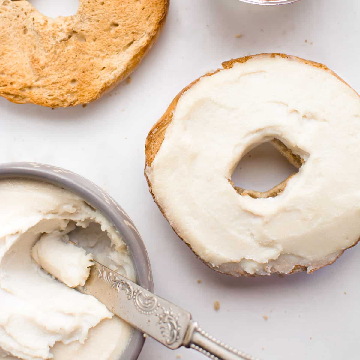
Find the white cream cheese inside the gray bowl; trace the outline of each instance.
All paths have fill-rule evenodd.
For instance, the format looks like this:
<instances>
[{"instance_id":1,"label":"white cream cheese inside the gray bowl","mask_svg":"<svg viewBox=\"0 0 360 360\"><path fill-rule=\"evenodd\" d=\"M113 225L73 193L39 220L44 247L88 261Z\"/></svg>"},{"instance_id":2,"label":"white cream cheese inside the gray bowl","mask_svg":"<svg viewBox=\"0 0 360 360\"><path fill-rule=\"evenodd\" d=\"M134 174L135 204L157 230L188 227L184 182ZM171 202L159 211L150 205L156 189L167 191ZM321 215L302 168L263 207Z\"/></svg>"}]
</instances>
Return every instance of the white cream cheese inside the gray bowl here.
<instances>
[{"instance_id":1,"label":"white cream cheese inside the gray bowl","mask_svg":"<svg viewBox=\"0 0 360 360\"><path fill-rule=\"evenodd\" d=\"M40 240L34 251L46 268L48 245L58 249L53 255L61 256L58 242L70 240L104 265L136 280L126 244L113 226L77 195L37 181L0 181L0 201L6 204L0 207L0 356L117 359L131 338L130 325L94 297L56 280L31 257ZM71 243L63 245L81 251L80 255L72 248L72 259L78 256L82 265L90 260L85 250ZM54 261L54 256L48 260ZM76 285L85 276L77 268L65 278Z\"/></svg>"}]
</instances>

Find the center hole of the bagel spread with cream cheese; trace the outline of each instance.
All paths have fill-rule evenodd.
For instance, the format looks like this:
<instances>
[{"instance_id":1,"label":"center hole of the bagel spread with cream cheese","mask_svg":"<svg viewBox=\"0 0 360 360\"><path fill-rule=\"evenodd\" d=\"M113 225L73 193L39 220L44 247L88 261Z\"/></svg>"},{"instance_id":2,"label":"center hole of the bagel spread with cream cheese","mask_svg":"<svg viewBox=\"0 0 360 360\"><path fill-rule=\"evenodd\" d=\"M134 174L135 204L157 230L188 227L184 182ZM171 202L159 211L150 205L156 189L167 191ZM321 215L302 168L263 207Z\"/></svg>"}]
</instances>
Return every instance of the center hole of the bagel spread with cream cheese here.
<instances>
[{"instance_id":1,"label":"center hole of the bagel spread with cream cheese","mask_svg":"<svg viewBox=\"0 0 360 360\"><path fill-rule=\"evenodd\" d=\"M278 141L285 147L281 141L273 141ZM297 156L293 156L297 160ZM298 166L300 167L301 163ZM298 170L299 168L292 165L270 142L266 142L243 156L231 175L231 184L240 195L253 198L276 197L285 189L286 184L282 184L283 181Z\"/></svg>"}]
</instances>

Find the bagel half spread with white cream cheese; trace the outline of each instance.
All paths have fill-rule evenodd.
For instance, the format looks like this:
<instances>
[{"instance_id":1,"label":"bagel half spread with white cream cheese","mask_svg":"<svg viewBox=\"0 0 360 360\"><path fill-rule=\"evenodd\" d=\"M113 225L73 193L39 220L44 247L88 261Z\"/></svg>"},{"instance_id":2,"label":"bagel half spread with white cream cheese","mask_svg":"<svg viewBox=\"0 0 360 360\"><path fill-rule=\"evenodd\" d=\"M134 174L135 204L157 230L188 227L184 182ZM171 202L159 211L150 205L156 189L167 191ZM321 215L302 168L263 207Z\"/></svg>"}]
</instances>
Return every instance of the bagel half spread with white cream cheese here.
<instances>
[{"instance_id":1,"label":"bagel half spread with white cream cheese","mask_svg":"<svg viewBox=\"0 0 360 360\"><path fill-rule=\"evenodd\" d=\"M212 269L312 272L360 235L360 97L322 64L260 54L186 87L149 132L145 176L180 238ZM272 141L297 174L265 193L234 188Z\"/></svg>"}]
</instances>

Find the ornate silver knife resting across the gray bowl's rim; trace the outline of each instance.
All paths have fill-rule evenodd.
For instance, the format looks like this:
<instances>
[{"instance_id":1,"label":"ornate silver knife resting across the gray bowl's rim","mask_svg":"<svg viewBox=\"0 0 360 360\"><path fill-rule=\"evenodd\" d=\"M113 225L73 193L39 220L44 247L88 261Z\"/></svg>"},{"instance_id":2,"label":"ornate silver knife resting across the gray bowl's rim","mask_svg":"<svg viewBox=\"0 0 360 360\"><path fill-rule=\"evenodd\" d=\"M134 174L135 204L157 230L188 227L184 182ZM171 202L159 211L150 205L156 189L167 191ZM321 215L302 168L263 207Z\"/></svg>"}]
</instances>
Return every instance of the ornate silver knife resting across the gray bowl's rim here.
<instances>
[{"instance_id":1,"label":"ornate silver knife resting across the gray bowl's rim","mask_svg":"<svg viewBox=\"0 0 360 360\"><path fill-rule=\"evenodd\" d=\"M257 360L225 345L191 320L191 314L93 260L82 293L170 349L192 348L212 360Z\"/></svg>"}]
</instances>

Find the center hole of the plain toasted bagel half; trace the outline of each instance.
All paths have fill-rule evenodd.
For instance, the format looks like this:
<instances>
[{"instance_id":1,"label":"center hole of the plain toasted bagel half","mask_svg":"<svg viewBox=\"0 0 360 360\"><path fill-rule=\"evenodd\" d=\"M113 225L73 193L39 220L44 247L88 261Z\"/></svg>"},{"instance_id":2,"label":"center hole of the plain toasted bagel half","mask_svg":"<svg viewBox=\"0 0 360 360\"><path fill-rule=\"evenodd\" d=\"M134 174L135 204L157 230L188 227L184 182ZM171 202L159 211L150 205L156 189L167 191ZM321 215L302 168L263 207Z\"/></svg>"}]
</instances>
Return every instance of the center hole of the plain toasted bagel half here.
<instances>
[{"instance_id":1,"label":"center hole of the plain toasted bagel half","mask_svg":"<svg viewBox=\"0 0 360 360\"><path fill-rule=\"evenodd\" d=\"M50 18L57 18L58 16L71 16L77 13L79 8L79 0L28 0L34 8L40 11L41 14Z\"/></svg>"}]
</instances>

